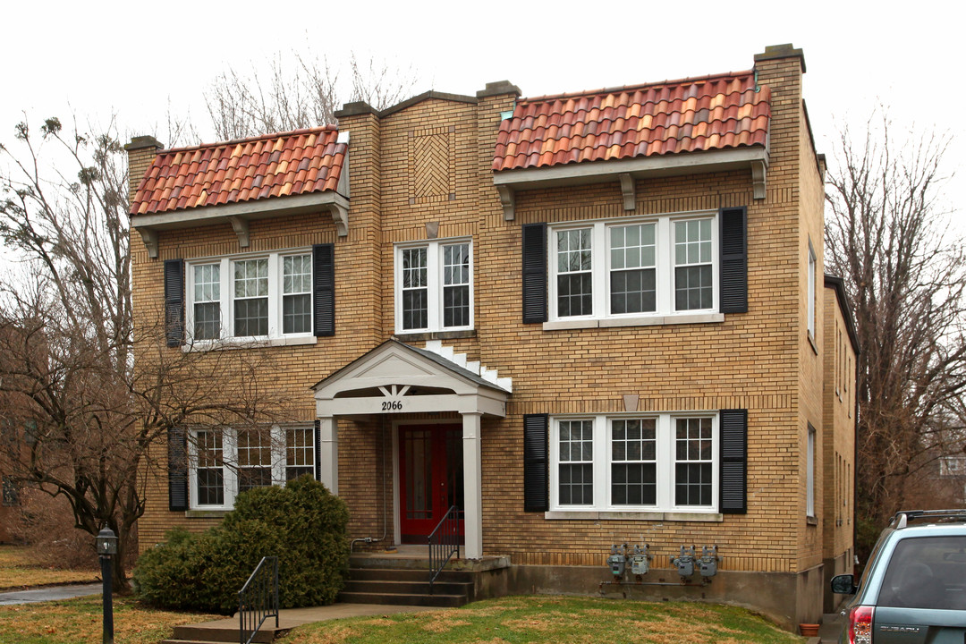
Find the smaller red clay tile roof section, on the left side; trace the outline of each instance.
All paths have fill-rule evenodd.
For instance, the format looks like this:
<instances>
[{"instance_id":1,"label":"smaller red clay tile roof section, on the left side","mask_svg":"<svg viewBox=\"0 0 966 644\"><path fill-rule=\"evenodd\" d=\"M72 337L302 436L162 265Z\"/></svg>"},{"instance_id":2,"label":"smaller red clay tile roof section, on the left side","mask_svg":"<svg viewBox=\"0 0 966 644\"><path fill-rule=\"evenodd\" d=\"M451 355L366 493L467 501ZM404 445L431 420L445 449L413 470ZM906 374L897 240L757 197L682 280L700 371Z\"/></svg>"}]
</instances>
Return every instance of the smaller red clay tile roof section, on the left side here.
<instances>
[{"instance_id":1,"label":"smaller red clay tile roof section, on the left side","mask_svg":"<svg viewBox=\"0 0 966 644\"><path fill-rule=\"evenodd\" d=\"M335 126L165 150L137 186L131 214L335 190L348 144Z\"/></svg>"}]
</instances>

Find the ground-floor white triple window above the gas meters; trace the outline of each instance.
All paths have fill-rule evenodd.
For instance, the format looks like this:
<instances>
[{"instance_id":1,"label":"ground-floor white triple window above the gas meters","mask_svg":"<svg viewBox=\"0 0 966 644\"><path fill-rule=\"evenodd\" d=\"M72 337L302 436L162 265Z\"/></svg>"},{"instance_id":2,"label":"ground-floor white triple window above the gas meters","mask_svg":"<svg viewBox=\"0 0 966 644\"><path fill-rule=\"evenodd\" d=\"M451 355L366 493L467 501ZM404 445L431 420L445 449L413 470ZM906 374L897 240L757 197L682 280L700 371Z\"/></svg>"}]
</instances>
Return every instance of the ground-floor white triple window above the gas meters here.
<instances>
[{"instance_id":1,"label":"ground-floor white triple window above the gas meters","mask_svg":"<svg viewBox=\"0 0 966 644\"><path fill-rule=\"evenodd\" d=\"M718 511L718 414L555 416L552 511Z\"/></svg>"}]
</instances>

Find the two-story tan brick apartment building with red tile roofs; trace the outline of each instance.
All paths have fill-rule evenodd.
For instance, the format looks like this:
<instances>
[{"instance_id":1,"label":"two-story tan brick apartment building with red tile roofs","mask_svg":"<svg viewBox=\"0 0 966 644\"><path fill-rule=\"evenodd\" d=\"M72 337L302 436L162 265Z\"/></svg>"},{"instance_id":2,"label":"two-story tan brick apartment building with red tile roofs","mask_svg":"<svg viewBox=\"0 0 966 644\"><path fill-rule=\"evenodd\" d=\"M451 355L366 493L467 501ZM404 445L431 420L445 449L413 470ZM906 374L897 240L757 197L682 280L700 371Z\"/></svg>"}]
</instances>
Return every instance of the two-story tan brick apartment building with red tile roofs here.
<instances>
[{"instance_id":1,"label":"two-story tan brick apartment building with red tile roofs","mask_svg":"<svg viewBox=\"0 0 966 644\"><path fill-rule=\"evenodd\" d=\"M816 621L851 570L856 344L823 275L804 72L780 45L743 72L135 138L135 315L166 307L168 351L269 348L260 378L301 401L264 433L284 449L174 429L141 547L314 472L374 546L424 544L457 505L465 556L508 557L507 592ZM601 585L625 542L651 573ZM692 545L720 573L675 585Z\"/></svg>"}]
</instances>

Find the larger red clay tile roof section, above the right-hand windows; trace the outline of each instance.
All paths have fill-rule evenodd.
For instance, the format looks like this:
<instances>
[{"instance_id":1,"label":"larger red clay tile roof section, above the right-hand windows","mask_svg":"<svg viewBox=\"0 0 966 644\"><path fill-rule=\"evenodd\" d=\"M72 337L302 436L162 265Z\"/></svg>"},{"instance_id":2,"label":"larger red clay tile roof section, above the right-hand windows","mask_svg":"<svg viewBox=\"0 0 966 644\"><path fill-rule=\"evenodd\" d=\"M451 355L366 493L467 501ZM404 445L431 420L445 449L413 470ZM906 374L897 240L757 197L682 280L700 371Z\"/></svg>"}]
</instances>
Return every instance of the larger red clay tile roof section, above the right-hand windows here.
<instances>
[{"instance_id":1,"label":"larger red clay tile roof section, above the right-hand windows","mask_svg":"<svg viewBox=\"0 0 966 644\"><path fill-rule=\"evenodd\" d=\"M494 170L766 145L768 87L740 71L522 98L500 124Z\"/></svg>"}]
</instances>

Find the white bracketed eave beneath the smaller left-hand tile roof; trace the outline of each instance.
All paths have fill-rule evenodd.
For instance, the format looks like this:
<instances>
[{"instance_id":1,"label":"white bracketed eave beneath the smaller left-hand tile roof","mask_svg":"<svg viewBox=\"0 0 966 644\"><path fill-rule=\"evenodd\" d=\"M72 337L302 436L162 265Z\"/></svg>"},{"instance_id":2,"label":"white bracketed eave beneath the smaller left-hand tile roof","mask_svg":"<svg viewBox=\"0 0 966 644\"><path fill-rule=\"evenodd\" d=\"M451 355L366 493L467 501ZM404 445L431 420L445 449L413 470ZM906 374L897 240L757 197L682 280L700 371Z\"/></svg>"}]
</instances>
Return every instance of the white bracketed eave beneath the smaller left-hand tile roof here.
<instances>
[{"instance_id":1,"label":"white bracketed eave beneath the smaller left-hand tile roof","mask_svg":"<svg viewBox=\"0 0 966 644\"><path fill-rule=\"evenodd\" d=\"M158 233L162 231L230 223L238 235L239 244L245 248L248 246L250 220L270 219L317 210L329 211L339 237L346 237L349 234L349 199L332 190L289 197L253 199L238 204L203 206L154 214L132 214L130 225L140 233L148 248L148 255L156 258Z\"/></svg>"}]
</instances>

